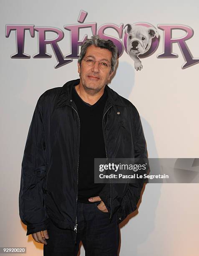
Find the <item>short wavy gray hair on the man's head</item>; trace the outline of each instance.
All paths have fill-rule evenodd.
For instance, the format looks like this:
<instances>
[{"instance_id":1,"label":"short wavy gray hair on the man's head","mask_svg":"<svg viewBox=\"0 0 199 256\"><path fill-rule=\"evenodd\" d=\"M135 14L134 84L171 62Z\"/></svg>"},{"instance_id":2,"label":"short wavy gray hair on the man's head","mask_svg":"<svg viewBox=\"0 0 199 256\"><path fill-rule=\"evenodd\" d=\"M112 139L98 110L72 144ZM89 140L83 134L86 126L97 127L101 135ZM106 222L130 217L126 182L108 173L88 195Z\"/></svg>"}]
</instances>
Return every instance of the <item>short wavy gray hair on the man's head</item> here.
<instances>
[{"instance_id":1,"label":"short wavy gray hair on the man's head","mask_svg":"<svg viewBox=\"0 0 199 256\"><path fill-rule=\"evenodd\" d=\"M118 49L115 46L115 44L113 43L113 41L111 40L105 40L105 39L101 39L98 35L95 36L91 36L91 39L87 39L81 46L81 52L79 55L79 59L78 59L78 63L81 66L81 61L84 58L84 56L86 55L86 49L88 48L88 46L94 45L96 47L100 47L103 49L107 49L108 51L111 51L112 53L112 57L111 57L111 72L113 72L116 68L116 64L117 64L117 58L118 58Z\"/></svg>"}]
</instances>

